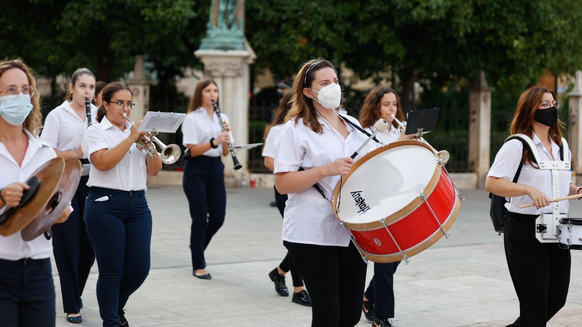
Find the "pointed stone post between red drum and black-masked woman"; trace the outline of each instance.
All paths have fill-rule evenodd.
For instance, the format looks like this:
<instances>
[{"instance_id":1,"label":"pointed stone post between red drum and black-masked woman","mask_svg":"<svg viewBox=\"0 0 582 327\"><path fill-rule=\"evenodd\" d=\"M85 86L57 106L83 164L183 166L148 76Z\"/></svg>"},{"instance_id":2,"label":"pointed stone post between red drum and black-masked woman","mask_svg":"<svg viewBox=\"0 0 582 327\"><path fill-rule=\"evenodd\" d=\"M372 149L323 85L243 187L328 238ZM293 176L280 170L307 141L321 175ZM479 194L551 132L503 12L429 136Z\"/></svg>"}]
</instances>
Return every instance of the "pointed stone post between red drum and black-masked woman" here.
<instances>
[{"instance_id":1,"label":"pointed stone post between red drum and black-masked woman","mask_svg":"<svg viewBox=\"0 0 582 327\"><path fill-rule=\"evenodd\" d=\"M477 187L485 187L491 147L491 92L485 72L479 72L469 95L469 170L477 175Z\"/></svg>"}]
</instances>

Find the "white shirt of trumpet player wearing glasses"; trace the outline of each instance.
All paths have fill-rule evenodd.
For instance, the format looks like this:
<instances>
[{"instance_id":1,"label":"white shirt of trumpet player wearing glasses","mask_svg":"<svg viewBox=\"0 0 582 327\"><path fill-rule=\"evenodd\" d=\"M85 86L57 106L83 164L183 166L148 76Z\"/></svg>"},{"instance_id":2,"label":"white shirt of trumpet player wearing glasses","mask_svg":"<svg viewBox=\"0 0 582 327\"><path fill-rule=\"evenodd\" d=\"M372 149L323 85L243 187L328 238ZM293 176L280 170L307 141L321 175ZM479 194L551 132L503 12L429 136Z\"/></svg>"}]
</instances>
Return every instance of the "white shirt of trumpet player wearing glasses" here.
<instances>
[{"instance_id":1,"label":"white shirt of trumpet player wearing glasses","mask_svg":"<svg viewBox=\"0 0 582 327\"><path fill-rule=\"evenodd\" d=\"M111 149L129 136L132 125L125 123L125 130L113 126L104 117L101 123L93 124L85 132L83 137L83 152L91 161L91 154L102 149ZM147 190L145 179L147 167L145 165L145 151L140 151L134 143L129 152L112 169L102 171L91 165L87 186L105 187L107 189L122 191Z\"/></svg>"}]
</instances>

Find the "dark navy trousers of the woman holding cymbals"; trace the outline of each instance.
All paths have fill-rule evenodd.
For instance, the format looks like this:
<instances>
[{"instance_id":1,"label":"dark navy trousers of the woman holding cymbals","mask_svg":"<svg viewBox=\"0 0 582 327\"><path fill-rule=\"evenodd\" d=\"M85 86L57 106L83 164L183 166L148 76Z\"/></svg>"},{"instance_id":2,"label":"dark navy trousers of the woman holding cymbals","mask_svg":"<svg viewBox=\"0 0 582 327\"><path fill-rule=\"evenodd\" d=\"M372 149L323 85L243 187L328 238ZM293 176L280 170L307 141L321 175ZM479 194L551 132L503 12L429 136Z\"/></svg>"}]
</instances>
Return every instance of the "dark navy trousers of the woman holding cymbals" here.
<instances>
[{"instance_id":1,"label":"dark navy trousers of the woman holding cymbals","mask_svg":"<svg viewBox=\"0 0 582 327\"><path fill-rule=\"evenodd\" d=\"M54 327L55 297L49 258L0 259L0 326Z\"/></svg>"}]
</instances>

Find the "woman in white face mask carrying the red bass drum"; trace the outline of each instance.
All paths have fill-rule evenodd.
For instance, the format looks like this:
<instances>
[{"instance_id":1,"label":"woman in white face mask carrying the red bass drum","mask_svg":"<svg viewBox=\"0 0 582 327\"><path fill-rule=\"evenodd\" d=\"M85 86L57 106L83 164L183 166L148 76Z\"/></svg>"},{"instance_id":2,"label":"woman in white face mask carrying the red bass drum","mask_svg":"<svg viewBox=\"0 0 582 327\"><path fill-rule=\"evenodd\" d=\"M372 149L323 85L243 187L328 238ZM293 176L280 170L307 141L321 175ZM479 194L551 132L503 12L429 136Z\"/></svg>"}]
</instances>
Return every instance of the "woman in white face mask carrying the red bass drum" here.
<instances>
[{"instance_id":1,"label":"woman in white face mask carrying the red bass drum","mask_svg":"<svg viewBox=\"0 0 582 327\"><path fill-rule=\"evenodd\" d=\"M346 117L347 123L338 115L342 93L331 62L313 59L301 66L292 93L292 108L275 140L275 186L289 194L283 245L311 296L311 325L354 326L361 316L366 265L326 198L349 172L350 155L366 137L352 126L360 127L355 118ZM375 146L369 143L359 157Z\"/></svg>"}]
</instances>

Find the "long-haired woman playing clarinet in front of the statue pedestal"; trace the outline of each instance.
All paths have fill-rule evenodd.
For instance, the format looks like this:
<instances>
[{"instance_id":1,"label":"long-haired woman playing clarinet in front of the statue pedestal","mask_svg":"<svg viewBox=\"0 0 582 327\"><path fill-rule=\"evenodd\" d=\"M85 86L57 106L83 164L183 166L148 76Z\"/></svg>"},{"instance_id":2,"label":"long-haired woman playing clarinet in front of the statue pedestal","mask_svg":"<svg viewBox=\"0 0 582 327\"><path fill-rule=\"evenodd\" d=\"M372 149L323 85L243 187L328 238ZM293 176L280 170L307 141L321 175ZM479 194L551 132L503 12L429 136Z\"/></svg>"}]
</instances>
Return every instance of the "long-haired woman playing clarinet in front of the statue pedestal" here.
<instances>
[{"instance_id":1,"label":"long-haired woman playing clarinet in front of the statue pedestal","mask_svg":"<svg viewBox=\"0 0 582 327\"><path fill-rule=\"evenodd\" d=\"M204 250L224 222L226 188L221 155L229 154L226 143L233 142L228 117L221 113L225 127L225 131L221 131L212 101L218 102L217 83L211 79L198 81L182 123L183 144L189 154L184 160L182 186L192 219L192 275L201 279L212 279L206 270Z\"/></svg>"}]
</instances>

